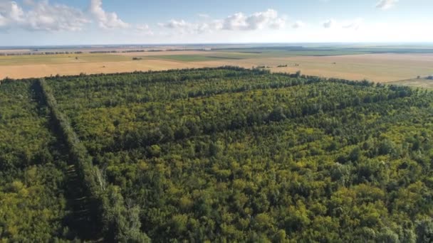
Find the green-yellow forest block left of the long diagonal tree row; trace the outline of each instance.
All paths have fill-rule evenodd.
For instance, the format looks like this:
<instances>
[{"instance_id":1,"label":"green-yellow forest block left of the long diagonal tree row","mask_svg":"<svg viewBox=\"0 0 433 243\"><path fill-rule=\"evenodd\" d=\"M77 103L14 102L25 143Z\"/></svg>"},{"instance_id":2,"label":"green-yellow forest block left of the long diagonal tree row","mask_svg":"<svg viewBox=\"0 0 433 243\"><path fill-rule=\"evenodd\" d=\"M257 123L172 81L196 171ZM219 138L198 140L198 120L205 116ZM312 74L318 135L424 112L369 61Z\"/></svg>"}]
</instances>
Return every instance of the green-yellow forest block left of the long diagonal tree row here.
<instances>
[{"instance_id":1,"label":"green-yellow forest block left of the long diagonal tree row","mask_svg":"<svg viewBox=\"0 0 433 243\"><path fill-rule=\"evenodd\" d=\"M0 85L0 242L73 239L64 224L66 158L34 80Z\"/></svg>"}]
</instances>

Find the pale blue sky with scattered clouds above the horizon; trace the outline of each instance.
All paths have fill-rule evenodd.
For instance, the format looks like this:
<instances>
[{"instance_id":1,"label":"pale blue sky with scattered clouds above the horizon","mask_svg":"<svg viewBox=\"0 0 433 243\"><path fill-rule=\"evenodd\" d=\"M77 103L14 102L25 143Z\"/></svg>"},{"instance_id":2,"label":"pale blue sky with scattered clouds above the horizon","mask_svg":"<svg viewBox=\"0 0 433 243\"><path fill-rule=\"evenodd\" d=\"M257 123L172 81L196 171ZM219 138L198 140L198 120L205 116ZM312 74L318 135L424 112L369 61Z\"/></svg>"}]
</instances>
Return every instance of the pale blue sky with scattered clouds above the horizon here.
<instances>
[{"instance_id":1,"label":"pale blue sky with scattered clouds above the horizon","mask_svg":"<svg viewBox=\"0 0 433 243\"><path fill-rule=\"evenodd\" d=\"M0 0L0 46L433 42L433 0Z\"/></svg>"}]
</instances>

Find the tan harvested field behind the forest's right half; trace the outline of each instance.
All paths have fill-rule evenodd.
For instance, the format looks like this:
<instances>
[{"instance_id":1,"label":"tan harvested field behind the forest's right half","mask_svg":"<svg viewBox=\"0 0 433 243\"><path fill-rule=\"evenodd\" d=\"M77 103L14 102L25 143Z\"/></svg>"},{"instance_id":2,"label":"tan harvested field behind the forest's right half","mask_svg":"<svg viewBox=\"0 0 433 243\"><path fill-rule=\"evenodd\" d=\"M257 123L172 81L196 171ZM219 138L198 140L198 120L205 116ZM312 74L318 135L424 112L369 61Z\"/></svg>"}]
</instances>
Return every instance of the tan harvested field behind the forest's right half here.
<instances>
[{"instance_id":1,"label":"tan harvested field behind the forest's right half","mask_svg":"<svg viewBox=\"0 0 433 243\"><path fill-rule=\"evenodd\" d=\"M433 73L433 55L367 54L338 56L293 56L285 58L254 58L225 60L224 63L244 68L265 66L273 72L296 72L320 77L338 77L349 80L392 82ZM221 65L207 62L207 65ZM278 65L287 67L277 68Z\"/></svg>"}]
</instances>

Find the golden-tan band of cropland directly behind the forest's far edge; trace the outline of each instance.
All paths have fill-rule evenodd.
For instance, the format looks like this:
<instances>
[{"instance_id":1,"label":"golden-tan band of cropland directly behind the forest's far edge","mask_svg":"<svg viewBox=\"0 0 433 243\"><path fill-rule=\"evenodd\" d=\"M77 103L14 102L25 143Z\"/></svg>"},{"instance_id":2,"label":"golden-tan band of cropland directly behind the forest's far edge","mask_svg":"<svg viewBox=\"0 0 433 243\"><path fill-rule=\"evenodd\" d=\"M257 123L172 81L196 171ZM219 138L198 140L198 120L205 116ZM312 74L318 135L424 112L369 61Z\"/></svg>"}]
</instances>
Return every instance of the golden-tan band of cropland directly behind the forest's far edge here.
<instances>
[{"instance_id":1,"label":"golden-tan band of cropland directly behind the forest's far edge","mask_svg":"<svg viewBox=\"0 0 433 243\"><path fill-rule=\"evenodd\" d=\"M78 75L132 72L135 70L168 70L177 68L218 67L238 65L244 68L266 66L272 72L296 72L306 75L338 77L349 80L392 82L411 80L418 75L433 74L433 54L367 54L338 56L281 56L261 57L239 53L244 59L219 59L203 61L170 60L179 55L217 55L224 53L202 51L164 51L146 53L80 54L80 55L32 55L0 57L0 79L25 78L50 75ZM135 56L159 56L158 59L132 60ZM168 58L160 57L165 55ZM227 54L228 55L228 54ZM234 55L230 53L229 55ZM78 59L75 58L78 56ZM247 58L245 58L247 57ZM181 58L182 59L182 58ZM277 68L278 65L288 65Z\"/></svg>"}]
</instances>

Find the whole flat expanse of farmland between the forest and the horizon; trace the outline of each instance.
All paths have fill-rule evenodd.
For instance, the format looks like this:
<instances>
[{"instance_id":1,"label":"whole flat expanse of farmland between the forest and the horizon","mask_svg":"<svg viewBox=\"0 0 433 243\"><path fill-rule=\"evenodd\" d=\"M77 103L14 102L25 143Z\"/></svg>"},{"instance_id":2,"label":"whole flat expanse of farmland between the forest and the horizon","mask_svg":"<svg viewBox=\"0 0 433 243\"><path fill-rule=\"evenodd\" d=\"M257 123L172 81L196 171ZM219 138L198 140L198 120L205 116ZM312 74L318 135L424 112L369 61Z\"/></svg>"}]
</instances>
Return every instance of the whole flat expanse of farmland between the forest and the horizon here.
<instances>
[{"instance_id":1,"label":"whole flat expanse of farmland between the forest and the horizon","mask_svg":"<svg viewBox=\"0 0 433 243\"><path fill-rule=\"evenodd\" d=\"M271 72L295 73L300 70L306 75L348 80L395 82L431 75L433 49L422 46L216 46L212 50L0 56L0 78L216 68L223 65L265 67ZM407 85L412 84L408 82ZM417 86L416 83L413 85Z\"/></svg>"}]
</instances>

